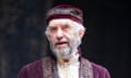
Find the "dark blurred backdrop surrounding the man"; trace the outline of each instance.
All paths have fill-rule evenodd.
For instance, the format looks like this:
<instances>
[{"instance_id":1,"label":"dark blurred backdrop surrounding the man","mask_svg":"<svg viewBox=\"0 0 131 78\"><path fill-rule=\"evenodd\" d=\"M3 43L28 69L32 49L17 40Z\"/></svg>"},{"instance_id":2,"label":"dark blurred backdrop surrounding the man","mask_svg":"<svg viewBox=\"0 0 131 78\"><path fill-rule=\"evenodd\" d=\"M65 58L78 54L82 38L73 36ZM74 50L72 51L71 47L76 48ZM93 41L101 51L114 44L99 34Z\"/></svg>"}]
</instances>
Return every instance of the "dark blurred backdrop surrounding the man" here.
<instances>
[{"instance_id":1,"label":"dark blurred backdrop surrounding the man","mask_svg":"<svg viewBox=\"0 0 131 78\"><path fill-rule=\"evenodd\" d=\"M61 3L84 12L83 55L111 78L130 78L129 4L122 0L0 0L0 78L16 78L22 66L46 55L45 13Z\"/></svg>"}]
</instances>

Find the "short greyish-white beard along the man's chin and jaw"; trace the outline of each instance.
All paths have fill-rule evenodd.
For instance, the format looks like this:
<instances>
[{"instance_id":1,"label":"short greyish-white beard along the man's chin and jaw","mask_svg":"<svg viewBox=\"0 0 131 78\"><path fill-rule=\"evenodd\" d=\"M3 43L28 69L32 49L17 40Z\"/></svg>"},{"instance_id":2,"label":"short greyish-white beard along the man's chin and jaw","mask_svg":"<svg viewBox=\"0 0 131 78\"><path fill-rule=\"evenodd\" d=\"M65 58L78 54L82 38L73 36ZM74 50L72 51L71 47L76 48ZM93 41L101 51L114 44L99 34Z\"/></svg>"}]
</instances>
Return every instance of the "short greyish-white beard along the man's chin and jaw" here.
<instances>
[{"instance_id":1,"label":"short greyish-white beard along the man's chin and jaw","mask_svg":"<svg viewBox=\"0 0 131 78\"><path fill-rule=\"evenodd\" d=\"M50 48L51 48L53 55L57 58L62 60L62 58L70 57L72 54L75 54L78 52L78 47L80 44L81 44L80 39L73 39L72 41L70 41L70 44L68 48L57 49L57 48L53 48L51 43L50 43Z\"/></svg>"}]
</instances>

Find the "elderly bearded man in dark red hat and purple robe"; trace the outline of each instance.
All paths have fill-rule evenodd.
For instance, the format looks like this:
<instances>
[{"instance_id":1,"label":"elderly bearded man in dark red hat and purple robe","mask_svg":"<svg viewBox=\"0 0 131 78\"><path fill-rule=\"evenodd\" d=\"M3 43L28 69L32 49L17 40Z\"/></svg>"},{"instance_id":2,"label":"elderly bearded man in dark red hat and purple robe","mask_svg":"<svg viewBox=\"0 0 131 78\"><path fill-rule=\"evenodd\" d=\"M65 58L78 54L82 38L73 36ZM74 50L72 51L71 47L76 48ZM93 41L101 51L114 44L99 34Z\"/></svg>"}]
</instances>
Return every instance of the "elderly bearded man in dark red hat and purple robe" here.
<instances>
[{"instance_id":1,"label":"elderly bearded man in dark red hat and purple robe","mask_svg":"<svg viewBox=\"0 0 131 78\"><path fill-rule=\"evenodd\" d=\"M50 9L45 34L52 54L25 65L17 78L110 78L105 67L81 56L82 10L69 4Z\"/></svg>"}]
</instances>

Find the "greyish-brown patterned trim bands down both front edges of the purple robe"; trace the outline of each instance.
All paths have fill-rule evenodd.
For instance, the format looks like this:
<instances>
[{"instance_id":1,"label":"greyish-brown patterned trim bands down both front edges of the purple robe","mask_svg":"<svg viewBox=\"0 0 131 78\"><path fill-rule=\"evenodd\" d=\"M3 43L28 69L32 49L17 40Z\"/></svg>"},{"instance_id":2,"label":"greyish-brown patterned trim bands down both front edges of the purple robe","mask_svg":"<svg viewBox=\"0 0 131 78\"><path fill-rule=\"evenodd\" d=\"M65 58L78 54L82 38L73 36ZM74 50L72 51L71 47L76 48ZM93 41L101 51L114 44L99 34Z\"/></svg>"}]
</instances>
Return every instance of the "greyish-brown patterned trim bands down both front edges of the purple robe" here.
<instances>
[{"instance_id":1,"label":"greyish-brown patterned trim bands down both front edges of the purple robe","mask_svg":"<svg viewBox=\"0 0 131 78\"><path fill-rule=\"evenodd\" d=\"M56 62L50 57L43 58L43 70L44 78L60 78L58 75ZM73 72L73 70L72 70ZM80 58L80 69L79 69L79 78L93 78L93 69L91 63L81 57Z\"/></svg>"}]
</instances>

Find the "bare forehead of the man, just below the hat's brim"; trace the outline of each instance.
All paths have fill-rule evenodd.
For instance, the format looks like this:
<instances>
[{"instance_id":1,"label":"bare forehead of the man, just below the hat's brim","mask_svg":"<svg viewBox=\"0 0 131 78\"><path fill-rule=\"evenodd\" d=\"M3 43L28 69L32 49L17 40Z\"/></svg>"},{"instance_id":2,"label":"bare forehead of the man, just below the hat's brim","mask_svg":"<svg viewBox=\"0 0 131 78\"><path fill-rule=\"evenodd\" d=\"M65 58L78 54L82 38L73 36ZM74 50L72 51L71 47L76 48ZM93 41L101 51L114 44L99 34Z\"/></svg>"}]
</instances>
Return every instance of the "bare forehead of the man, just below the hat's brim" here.
<instances>
[{"instance_id":1,"label":"bare forehead of the man, just below the hat's brim","mask_svg":"<svg viewBox=\"0 0 131 78\"><path fill-rule=\"evenodd\" d=\"M48 26L57 26L57 25L69 25L72 26L73 21L69 18L56 18L51 20L48 24Z\"/></svg>"}]
</instances>

